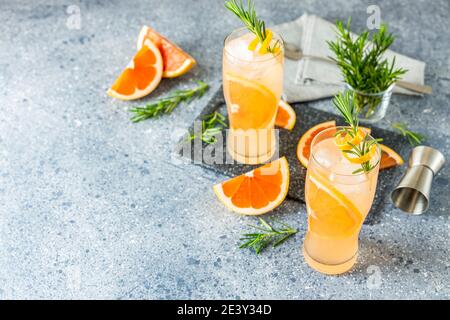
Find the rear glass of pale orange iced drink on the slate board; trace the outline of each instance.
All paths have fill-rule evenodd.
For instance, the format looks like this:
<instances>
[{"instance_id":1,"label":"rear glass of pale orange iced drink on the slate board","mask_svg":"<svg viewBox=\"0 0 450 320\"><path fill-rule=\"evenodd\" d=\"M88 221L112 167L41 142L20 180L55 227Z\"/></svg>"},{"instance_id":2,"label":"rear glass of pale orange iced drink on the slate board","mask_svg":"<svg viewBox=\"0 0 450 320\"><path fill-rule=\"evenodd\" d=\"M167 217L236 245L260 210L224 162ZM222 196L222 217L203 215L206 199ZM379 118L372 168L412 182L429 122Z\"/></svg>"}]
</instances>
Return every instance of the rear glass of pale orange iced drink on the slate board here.
<instances>
[{"instance_id":1,"label":"rear glass of pale orange iced drink on the slate board","mask_svg":"<svg viewBox=\"0 0 450 320\"><path fill-rule=\"evenodd\" d=\"M242 28L232 32L223 49L223 91L230 130L227 148L238 162L258 164L276 150L274 123L283 89L283 42L279 50L250 50L255 35Z\"/></svg>"}]
</instances>

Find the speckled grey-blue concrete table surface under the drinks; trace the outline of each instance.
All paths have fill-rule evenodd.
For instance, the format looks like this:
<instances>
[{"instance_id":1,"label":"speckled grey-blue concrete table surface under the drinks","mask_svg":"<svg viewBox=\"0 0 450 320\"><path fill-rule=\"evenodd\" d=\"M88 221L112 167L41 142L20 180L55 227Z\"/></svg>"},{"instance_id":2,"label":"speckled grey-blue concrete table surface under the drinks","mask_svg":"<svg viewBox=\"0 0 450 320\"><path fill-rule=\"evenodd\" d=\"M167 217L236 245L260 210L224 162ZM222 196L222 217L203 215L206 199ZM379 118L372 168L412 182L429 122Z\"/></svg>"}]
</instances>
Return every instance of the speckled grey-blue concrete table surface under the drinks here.
<instances>
[{"instance_id":1,"label":"speckled grey-blue concrete table surface under the drinks","mask_svg":"<svg viewBox=\"0 0 450 320\"><path fill-rule=\"evenodd\" d=\"M256 2L269 25L306 11L331 21L352 15L356 31L371 4ZM406 121L450 159L450 3L379 6L397 35L393 49L425 60L434 89L395 96L380 125ZM379 224L363 227L358 263L343 276L305 264L306 212L297 202L273 213L299 228L295 238L260 256L237 248L255 219L219 204L211 186L224 177L171 157L218 88L222 41L240 26L222 1L1 0L0 9L0 299L449 298L450 166L435 181L429 212L412 217L387 204ZM199 65L139 103L197 79L211 89L133 124L126 109L135 103L105 91L144 24ZM306 106L331 110L329 100Z\"/></svg>"}]
</instances>

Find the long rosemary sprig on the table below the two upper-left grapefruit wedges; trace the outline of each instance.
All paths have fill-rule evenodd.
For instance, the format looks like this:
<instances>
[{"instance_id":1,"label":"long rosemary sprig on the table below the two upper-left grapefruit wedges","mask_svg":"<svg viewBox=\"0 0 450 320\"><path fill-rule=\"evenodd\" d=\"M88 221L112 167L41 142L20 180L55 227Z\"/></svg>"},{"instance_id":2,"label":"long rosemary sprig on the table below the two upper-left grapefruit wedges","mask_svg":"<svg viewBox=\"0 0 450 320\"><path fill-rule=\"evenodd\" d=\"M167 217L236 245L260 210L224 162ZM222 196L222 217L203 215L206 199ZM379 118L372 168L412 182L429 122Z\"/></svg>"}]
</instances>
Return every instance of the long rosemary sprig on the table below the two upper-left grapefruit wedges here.
<instances>
[{"instance_id":1,"label":"long rosemary sprig on the table below the two upper-left grapefruit wedges","mask_svg":"<svg viewBox=\"0 0 450 320\"><path fill-rule=\"evenodd\" d=\"M208 85L203 81L197 81L198 86L193 89L176 90L171 95L157 101L148 103L144 107L134 107L130 112L136 115L131 118L133 122L139 122L148 118L153 118L161 113L171 113L181 102L201 97L208 89Z\"/></svg>"}]
</instances>

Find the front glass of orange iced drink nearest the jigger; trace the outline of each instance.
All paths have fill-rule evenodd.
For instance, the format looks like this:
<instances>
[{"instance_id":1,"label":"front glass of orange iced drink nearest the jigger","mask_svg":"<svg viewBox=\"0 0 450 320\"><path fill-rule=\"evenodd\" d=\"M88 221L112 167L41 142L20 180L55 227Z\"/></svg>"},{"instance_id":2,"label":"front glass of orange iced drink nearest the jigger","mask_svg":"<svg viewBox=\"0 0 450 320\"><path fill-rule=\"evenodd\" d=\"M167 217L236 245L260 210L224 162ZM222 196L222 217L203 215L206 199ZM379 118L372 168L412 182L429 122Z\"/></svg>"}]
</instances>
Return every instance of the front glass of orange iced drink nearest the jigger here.
<instances>
[{"instance_id":1,"label":"front glass of orange iced drink nearest the jigger","mask_svg":"<svg viewBox=\"0 0 450 320\"><path fill-rule=\"evenodd\" d=\"M303 255L325 274L346 272L356 262L358 235L375 196L381 155L377 147L370 160L374 168L355 173L361 165L338 149L336 130L326 129L314 138L305 185L308 231Z\"/></svg>"}]
</instances>

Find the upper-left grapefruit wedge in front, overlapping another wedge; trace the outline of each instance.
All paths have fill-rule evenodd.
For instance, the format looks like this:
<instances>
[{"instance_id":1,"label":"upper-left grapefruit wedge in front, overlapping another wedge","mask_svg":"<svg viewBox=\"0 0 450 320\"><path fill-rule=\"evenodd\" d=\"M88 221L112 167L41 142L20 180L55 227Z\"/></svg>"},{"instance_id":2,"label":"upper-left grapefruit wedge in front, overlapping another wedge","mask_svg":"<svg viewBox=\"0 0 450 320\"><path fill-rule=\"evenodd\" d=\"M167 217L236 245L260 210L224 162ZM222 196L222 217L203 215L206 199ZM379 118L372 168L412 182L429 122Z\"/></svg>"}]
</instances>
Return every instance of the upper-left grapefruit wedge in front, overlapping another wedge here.
<instances>
[{"instance_id":1,"label":"upper-left grapefruit wedge in front, overlapping another wedge","mask_svg":"<svg viewBox=\"0 0 450 320\"><path fill-rule=\"evenodd\" d=\"M146 40L107 93L121 100L142 98L158 86L162 72L161 53L150 40Z\"/></svg>"}]
</instances>

